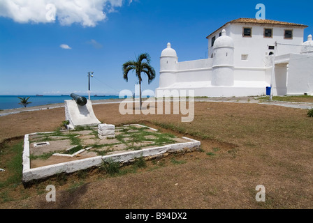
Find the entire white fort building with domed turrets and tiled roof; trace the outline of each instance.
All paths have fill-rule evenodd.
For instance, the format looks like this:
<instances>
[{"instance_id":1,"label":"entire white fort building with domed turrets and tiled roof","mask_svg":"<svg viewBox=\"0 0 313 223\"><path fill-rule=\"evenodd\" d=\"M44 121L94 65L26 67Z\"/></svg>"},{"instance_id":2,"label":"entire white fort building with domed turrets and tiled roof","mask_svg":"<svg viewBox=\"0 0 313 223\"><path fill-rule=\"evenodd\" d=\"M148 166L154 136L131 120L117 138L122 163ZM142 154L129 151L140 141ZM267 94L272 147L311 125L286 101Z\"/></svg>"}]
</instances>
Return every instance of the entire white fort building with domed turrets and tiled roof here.
<instances>
[{"instance_id":1,"label":"entire white fort building with domed turrets and tiled roof","mask_svg":"<svg viewBox=\"0 0 313 223\"><path fill-rule=\"evenodd\" d=\"M240 97L313 93L313 41L303 24L238 19L211 33L208 59L179 62L168 43L160 58L159 88L195 96ZM163 90L159 91L158 90Z\"/></svg>"}]
</instances>

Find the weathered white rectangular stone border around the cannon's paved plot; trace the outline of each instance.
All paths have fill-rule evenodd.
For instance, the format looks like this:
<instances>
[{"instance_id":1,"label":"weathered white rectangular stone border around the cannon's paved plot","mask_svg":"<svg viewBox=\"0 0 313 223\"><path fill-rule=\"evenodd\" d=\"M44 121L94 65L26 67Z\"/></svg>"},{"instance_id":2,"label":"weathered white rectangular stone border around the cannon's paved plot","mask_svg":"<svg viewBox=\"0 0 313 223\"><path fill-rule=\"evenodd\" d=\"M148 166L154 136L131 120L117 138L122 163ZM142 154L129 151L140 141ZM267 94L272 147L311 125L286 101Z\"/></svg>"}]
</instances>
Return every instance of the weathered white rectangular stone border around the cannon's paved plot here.
<instances>
[{"instance_id":1,"label":"weathered white rectangular stone border around the cannon's paved plot","mask_svg":"<svg viewBox=\"0 0 313 223\"><path fill-rule=\"evenodd\" d=\"M144 125L143 125L144 126ZM145 126L147 127L147 126ZM148 127L149 128L149 127ZM48 133L48 132L41 132ZM38 134L32 133L32 134ZM124 153L117 153L112 155L90 157L82 160L75 160L70 162L62 162L59 164L52 164L45 167L30 168L30 148L29 148L29 135L26 134L24 137L24 151L23 151L23 171L22 171L22 182L29 183L32 180L40 180L61 173L73 173L82 169L88 169L90 167L96 167L103 164L103 162L128 162L129 160L136 159L138 157L150 157L154 155L161 155L163 153L176 153L182 152L186 149L192 150L201 146L201 141L182 137L183 139L189 140L189 142L169 144L166 146L159 146L154 148L144 148L139 151L129 151Z\"/></svg>"}]
</instances>

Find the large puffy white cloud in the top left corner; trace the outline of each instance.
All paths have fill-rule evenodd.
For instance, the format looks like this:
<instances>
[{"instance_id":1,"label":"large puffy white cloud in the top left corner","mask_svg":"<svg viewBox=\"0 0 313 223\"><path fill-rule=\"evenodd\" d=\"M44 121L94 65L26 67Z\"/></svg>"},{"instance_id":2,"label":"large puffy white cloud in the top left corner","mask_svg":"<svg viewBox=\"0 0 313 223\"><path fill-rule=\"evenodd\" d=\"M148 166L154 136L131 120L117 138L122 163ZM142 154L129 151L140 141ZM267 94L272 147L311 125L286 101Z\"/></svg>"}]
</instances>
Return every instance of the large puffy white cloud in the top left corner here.
<instances>
[{"instance_id":1,"label":"large puffy white cloud in the top left corner","mask_svg":"<svg viewBox=\"0 0 313 223\"><path fill-rule=\"evenodd\" d=\"M20 23L57 20L61 25L96 26L125 1L132 0L0 0L0 16Z\"/></svg>"}]
</instances>

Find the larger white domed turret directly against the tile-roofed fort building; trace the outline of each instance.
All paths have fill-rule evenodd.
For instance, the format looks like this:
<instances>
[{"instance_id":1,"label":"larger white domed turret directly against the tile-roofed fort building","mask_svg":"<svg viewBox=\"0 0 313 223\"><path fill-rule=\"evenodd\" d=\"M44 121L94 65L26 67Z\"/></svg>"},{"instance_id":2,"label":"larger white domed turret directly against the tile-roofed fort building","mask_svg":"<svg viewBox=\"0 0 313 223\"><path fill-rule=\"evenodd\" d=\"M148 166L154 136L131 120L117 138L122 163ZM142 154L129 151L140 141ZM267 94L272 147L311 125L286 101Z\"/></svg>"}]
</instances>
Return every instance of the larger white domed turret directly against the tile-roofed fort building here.
<instances>
[{"instance_id":1,"label":"larger white domed turret directly against the tile-roofed fort building","mask_svg":"<svg viewBox=\"0 0 313 223\"><path fill-rule=\"evenodd\" d=\"M213 46L212 86L233 86L233 51L233 38L223 29Z\"/></svg>"}]
</instances>

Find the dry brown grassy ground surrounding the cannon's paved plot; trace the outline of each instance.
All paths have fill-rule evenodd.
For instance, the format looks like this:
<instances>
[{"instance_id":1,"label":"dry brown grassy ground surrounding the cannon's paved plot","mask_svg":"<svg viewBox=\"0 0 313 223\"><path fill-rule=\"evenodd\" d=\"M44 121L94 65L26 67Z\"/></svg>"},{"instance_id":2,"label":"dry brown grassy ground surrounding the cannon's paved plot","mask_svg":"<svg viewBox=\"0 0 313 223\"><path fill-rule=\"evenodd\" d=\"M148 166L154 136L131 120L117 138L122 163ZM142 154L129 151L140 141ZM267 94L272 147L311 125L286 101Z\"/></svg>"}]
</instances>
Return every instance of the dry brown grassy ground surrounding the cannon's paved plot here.
<instances>
[{"instance_id":1,"label":"dry brown grassy ground surrounding the cannon's paved plot","mask_svg":"<svg viewBox=\"0 0 313 223\"><path fill-rule=\"evenodd\" d=\"M203 152L150 161L121 176L92 169L63 184L17 185L0 208L313 208L313 118L304 109L196 102L190 123L173 114L122 115L118 104L94 105L94 112L103 123L144 123L200 140ZM62 121L64 108L2 116L0 141L56 130ZM0 180L9 174L0 172ZM45 200L50 184L56 202ZM265 202L256 201L257 185L265 187Z\"/></svg>"}]
</instances>

